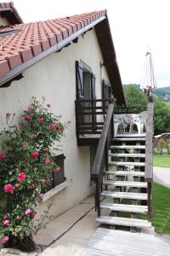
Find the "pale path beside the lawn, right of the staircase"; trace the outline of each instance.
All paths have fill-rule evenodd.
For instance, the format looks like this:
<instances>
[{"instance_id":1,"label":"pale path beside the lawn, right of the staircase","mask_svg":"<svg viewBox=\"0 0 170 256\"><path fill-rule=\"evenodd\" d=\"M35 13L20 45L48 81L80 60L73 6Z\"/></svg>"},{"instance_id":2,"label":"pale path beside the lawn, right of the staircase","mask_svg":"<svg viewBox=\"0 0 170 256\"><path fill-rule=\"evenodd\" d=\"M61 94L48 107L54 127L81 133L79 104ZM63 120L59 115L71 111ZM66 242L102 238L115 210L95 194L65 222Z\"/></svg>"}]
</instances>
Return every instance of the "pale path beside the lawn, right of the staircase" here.
<instances>
[{"instance_id":1,"label":"pale path beside the lawn, right of the staircase","mask_svg":"<svg viewBox=\"0 0 170 256\"><path fill-rule=\"evenodd\" d=\"M154 166L154 181L170 188L170 168Z\"/></svg>"}]
</instances>

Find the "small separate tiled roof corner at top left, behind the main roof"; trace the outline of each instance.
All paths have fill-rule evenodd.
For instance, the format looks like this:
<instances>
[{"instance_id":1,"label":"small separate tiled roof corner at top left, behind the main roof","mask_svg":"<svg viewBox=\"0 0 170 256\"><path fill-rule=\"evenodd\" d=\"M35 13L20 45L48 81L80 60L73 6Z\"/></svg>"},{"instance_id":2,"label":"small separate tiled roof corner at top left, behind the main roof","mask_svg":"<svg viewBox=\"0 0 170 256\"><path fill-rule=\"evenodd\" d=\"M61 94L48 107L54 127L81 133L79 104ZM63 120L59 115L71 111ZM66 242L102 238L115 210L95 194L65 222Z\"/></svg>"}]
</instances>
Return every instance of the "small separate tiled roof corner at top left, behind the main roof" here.
<instances>
[{"instance_id":1,"label":"small separate tiled roof corner at top left, behind the main roof","mask_svg":"<svg viewBox=\"0 0 170 256\"><path fill-rule=\"evenodd\" d=\"M7 18L10 24L23 23L17 9L14 8L14 3L0 3L0 15Z\"/></svg>"}]
</instances>

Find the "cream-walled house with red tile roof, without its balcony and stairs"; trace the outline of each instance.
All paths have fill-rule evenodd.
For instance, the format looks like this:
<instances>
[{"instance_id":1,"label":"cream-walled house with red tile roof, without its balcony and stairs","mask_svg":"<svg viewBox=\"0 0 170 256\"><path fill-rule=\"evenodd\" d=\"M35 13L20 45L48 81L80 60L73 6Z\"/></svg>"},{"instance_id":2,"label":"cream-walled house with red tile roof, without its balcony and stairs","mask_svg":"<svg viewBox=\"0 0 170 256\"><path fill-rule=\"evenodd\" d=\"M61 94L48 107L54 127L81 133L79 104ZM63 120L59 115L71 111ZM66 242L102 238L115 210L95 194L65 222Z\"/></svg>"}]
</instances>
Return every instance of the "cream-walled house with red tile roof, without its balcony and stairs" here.
<instances>
[{"instance_id":1,"label":"cream-walled house with red tile roof, without its balcony and stairs","mask_svg":"<svg viewBox=\"0 0 170 256\"><path fill-rule=\"evenodd\" d=\"M103 83L104 96L110 91L118 103L125 102L109 21L104 10L24 24L13 3L1 3L0 13L1 127L4 114L20 115L31 96L45 96L54 113L71 120L62 141L66 179L51 193L56 193L52 209L56 216L92 192L90 162L94 156L89 145L77 146L75 100L101 99ZM80 70L81 92L77 88ZM91 95L92 86L95 95Z\"/></svg>"}]
</instances>

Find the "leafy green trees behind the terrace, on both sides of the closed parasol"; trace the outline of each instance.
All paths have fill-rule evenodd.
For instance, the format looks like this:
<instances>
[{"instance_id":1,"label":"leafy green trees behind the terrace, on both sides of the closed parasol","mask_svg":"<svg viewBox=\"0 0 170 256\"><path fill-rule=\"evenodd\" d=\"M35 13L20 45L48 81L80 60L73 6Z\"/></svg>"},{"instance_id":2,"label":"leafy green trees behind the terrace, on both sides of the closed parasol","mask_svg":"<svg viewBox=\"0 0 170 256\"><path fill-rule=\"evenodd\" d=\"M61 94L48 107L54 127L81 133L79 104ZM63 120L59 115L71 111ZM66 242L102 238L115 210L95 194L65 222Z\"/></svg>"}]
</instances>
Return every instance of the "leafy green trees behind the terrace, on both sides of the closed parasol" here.
<instances>
[{"instance_id":1,"label":"leafy green trees behind the terrace, on both sides of the closed parasol","mask_svg":"<svg viewBox=\"0 0 170 256\"><path fill-rule=\"evenodd\" d=\"M134 84L129 84L124 89L127 106L146 106L147 98L144 96L142 90ZM170 107L166 102L154 97L154 125L155 135L170 132Z\"/></svg>"}]
</instances>

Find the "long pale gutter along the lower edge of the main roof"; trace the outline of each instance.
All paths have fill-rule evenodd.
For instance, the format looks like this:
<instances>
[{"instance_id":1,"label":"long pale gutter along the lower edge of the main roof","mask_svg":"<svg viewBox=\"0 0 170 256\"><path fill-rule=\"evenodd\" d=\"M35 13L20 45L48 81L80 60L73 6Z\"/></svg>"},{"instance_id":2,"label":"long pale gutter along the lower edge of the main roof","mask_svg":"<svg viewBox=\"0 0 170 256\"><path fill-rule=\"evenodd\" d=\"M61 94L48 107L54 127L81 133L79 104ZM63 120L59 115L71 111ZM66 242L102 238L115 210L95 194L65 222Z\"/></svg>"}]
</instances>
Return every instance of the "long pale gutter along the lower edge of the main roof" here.
<instances>
[{"instance_id":1,"label":"long pale gutter along the lower edge of the main roof","mask_svg":"<svg viewBox=\"0 0 170 256\"><path fill-rule=\"evenodd\" d=\"M59 49L62 49L65 47L66 44L71 43L74 39L81 36L84 32L87 32L89 29L93 28L95 25L97 25L102 20L105 20L106 16L100 17L98 20L93 21L92 23L88 24L88 26L84 26L79 31L73 33L68 38L65 38L58 44L55 44L54 46L50 47L49 49L44 50L41 54L34 56L31 58L31 60L26 61L25 63L20 64L19 67L15 67L14 69L10 70L7 74L3 76L3 78L0 79L0 86L7 83L9 80L14 79L14 77L18 76L20 73L24 72L27 68L33 66L37 63L37 61L41 61L48 55L53 54L54 52L58 51Z\"/></svg>"}]
</instances>

